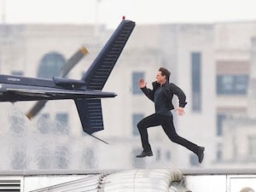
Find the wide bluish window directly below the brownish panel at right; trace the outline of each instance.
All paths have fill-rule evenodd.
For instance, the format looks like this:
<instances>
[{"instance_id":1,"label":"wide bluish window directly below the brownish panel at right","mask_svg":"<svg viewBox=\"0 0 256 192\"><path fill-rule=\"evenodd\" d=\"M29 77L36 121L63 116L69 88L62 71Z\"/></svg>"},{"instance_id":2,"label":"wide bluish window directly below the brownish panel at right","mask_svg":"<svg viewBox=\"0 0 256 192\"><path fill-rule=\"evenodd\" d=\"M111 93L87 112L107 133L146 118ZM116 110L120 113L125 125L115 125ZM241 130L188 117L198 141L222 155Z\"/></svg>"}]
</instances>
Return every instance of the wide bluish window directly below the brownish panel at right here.
<instances>
[{"instance_id":1,"label":"wide bluish window directly below the brownish panel at right","mask_svg":"<svg viewBox=\"0 0 256 192\"><path fill-rule=\"evenodd\" d=\"M248 75L218 75L218 95L247 95Z\"/></svg>"}]
</instances>

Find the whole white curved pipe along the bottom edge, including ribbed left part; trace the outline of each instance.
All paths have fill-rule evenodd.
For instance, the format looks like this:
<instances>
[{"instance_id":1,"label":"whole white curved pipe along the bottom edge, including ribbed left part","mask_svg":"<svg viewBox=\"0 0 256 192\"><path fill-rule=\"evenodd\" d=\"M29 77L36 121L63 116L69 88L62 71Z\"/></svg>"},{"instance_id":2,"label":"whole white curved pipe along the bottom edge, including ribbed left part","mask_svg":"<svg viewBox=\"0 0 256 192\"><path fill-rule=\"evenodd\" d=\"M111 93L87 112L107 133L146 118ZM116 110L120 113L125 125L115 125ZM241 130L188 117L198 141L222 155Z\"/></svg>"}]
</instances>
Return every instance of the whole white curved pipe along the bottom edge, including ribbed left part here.
<instances>
[{"instance_id":1,"label":"whole white curved pipe along the bottom edge, including ribbed left part","mask_svg":"<svg viewBox=\"0 0 256 192\"><path fill-rule=\"evenodd\" d=\"M96 174L33 192L188 192L177 169L127 170Z\"/></svg>"}]
</instances>

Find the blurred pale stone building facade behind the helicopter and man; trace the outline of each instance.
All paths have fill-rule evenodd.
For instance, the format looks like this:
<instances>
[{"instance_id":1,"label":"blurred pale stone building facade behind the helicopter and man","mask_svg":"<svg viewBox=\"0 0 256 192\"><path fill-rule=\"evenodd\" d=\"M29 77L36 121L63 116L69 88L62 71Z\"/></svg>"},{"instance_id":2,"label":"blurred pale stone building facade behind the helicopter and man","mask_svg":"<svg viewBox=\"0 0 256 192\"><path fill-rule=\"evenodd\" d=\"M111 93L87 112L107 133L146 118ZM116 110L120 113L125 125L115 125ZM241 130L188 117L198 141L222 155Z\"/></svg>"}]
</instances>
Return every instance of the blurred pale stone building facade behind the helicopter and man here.
<instances>
[{"instance_id":1,"label":"blurred pale stone building facade behind the helicopter and man","mask_svg":"<svg viewBox=\"0 0 256 192\"><path fill-rule=\"evenodd\" d=\"M105 130L96 136L111 144L106 146L82 132L73 101L47 102L32 123L19 110L26 113L34 102L18 102L15 107L1 103L9 108L0 112L7 119L2 119L6 122L1 137L15 130L6 143L17 146L12 153L2 154L3 165L10 170L199 166L195 154L172 143L160 127L148 129L154 156L135 158L142 150L137 122L154 113L154 103L143 96L138 79L145 79L150 88L158 68L167 67L171 81L184 90L188 101L183 117L173 111L177 133L206 147L201 166L236 167L237 160L245 166L247 158L239 161L237 157L246 155L252 162L256 155L255 120L249 121L249 128L248 121L240 120L255 118L255 28L253 21L137 25L104 87L118 96L102 100ZM51 78L84 45L90 54L68 75L80 79L112 32L102 27L97 33L94 26L86 25L2 25L0 73ZM177 98L173 102L177 106ZM233 129L234 122L240 122L239 128ZM239 137L243 131L250 134L239 142L229 134ZM17 132L21 132L19 143ZM49 159L55 163L49 164Z\"/></svg>"}]
</instances>

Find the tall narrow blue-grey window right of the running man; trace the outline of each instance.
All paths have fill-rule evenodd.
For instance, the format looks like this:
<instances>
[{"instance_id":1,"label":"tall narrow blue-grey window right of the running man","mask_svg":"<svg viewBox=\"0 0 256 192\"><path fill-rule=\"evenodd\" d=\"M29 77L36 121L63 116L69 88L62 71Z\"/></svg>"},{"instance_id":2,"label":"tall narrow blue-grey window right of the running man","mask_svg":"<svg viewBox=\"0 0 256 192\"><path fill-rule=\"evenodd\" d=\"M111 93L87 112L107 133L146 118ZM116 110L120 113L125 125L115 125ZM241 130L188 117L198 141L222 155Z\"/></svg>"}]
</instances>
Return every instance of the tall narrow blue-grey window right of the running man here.
<instances>
[{"instance_id":1,"label":"tall narrow blue-grey window right of the running man","mask_svg":"<svg viewBox=\"0 0 256 192\"><path fill-rule=\"evenodd\" d=\"M192 110L201 111L201 53L191 53Z\"/></svg>"}]
</instances>

